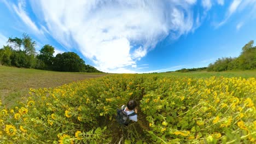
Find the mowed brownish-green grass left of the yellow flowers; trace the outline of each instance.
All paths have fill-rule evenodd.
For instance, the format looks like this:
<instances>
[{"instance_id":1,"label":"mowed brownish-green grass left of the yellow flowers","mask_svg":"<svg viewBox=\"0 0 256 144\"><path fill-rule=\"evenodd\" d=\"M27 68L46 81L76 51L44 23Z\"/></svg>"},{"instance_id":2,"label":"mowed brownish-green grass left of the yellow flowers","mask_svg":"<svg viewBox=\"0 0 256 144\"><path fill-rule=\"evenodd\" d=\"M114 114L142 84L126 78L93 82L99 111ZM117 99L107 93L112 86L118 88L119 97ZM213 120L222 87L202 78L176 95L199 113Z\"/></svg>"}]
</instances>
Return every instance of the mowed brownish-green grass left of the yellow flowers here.
<instances>
[{"instance_id":1,"label":"mowed brownish-green grass left of the yellow flowers","mask_svg":"<svg viewBox=\"0 0 256 144\"><path fill-rule=\"evenodd\" d=\"M53 88L103 75L106 74L67 73L0 65L0 98L4 105L12 107L16 101L27 97L30 88Z\"/></svg>"}]
</instances>

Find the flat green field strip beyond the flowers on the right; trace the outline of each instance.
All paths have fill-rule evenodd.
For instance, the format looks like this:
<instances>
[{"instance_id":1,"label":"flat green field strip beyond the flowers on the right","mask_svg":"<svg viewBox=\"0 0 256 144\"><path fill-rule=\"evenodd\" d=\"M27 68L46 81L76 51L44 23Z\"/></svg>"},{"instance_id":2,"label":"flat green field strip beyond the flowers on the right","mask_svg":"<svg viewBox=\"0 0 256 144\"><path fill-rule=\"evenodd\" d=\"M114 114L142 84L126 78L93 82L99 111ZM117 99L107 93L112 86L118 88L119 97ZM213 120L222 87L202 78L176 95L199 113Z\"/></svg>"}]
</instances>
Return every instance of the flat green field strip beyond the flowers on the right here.
<instances>
[{"instance_id":1,"label":"flat green field strip beyond the flowers on the right","mask_svg":"<svg viewBox=\"0 0 256 144\"><path fill-rule=\"evenodd\" d=\"M248 79L249 77L256 77L256 70L245 70L245 71L222 71L222 72L208 72L208 71L196 71L189 73L158 73L151 75L159 76L182 76L182 77L194 77L194 78L206 78L211 76L224 76L224 77L242 77Z\"/></svg>"}]
</instances>

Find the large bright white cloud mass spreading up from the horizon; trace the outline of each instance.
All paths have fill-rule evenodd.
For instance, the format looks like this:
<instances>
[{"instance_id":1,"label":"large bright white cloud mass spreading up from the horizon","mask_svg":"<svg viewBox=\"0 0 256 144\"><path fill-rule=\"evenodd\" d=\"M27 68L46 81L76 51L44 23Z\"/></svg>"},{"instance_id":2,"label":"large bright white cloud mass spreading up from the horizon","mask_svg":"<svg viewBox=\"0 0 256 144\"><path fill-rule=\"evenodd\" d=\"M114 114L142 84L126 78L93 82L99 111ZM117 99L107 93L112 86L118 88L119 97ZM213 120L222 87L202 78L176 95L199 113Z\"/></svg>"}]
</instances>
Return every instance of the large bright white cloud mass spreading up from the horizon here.
<instances>
[{"instance_id":1,"label":"large bright white cloud mass spreading up from the horizon","mask_svg":"<svg viewBox=\"0 0 256 144\"><path fill-rule=\"evenodd\" d=\"M77 45L101 71L126 71L171 35L193 29L195 0L31 1L45 29L69 49ZM32 23L31 23L32 24ZM134 46L136 45L136 46ZM127 70L129 71L129 70Z\"/></svg>"}]
</instances>

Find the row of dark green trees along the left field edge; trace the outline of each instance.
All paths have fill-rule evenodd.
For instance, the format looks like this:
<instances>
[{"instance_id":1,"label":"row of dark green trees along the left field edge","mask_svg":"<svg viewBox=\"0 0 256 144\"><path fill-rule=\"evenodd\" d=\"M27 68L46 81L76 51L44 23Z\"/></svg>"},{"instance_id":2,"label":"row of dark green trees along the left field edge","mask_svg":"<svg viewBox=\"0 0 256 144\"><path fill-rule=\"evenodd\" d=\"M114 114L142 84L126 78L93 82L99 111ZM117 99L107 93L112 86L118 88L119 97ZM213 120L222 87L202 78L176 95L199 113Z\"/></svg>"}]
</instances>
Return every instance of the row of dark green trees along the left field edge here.
<instances>
[{"instance_id":1,"label":"row of dark green trees along the left field edge","mask_svg":"<svg viewBox=\"0 0 256 144\"><path fill-rule=\"evenodd\" d=\"M102 73L74 52L58 53L54 57L54 47L46 44L39 53L36 52L36 41L24 33L22 38L9 38L7 45L0 49L0 64L18 68L34 68L54 71L82 73Z\"/></svg>"}]
</instances>

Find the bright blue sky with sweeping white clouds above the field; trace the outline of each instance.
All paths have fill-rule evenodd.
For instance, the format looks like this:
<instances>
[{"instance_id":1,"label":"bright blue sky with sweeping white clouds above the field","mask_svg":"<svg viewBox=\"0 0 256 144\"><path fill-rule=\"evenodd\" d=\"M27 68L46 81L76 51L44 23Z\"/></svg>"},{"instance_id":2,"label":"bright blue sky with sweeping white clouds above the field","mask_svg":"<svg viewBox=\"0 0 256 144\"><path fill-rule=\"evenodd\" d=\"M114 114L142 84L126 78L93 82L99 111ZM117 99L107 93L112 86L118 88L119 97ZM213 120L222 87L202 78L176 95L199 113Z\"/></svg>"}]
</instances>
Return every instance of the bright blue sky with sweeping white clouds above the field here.
<instances>
[{"instance_id":1,"label":"bright blue sky with sweeping white clouds above the field","mask_svg":"<svg viewBox=\"0 0 256 144\"><path fill-rule=\"evenodd\" d=\"M109 73L207 67L256 40L255 0L0 0L0 45L27 33Z\"/></svg>"}]
</instances>

